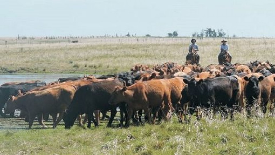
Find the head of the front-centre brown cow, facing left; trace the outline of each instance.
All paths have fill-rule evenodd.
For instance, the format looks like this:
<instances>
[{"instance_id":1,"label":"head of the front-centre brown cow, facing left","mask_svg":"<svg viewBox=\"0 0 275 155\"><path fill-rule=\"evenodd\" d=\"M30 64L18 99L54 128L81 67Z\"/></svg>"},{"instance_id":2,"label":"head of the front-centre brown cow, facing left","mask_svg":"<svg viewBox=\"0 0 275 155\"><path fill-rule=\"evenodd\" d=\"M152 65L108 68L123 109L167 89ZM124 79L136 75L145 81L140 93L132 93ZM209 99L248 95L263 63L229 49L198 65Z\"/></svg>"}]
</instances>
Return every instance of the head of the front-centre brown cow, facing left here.
<instances>
[{"instance_id":1,"label":"head of the front-centre brown cow, facing left","mask_svg":"<svg viewBox=\"0 0 275 155\"><path fill-rule=\"evenodd\" d=\"M115 90L111 94L109 104L116 105L124 101L124 92L127 90L127 87L115 87Z\"/></svg>"}]
</instances>

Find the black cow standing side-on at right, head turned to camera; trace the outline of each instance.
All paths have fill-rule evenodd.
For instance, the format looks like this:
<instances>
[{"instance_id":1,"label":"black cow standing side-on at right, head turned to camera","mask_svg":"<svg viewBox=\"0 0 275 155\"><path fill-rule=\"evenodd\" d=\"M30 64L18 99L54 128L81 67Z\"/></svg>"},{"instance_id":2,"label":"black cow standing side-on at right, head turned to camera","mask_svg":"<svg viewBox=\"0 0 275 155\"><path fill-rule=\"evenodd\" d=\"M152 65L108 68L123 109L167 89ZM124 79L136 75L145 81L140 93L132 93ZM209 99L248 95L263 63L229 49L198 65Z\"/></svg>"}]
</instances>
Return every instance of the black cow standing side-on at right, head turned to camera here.
<instances>
[{"instance_id":1,"label":"black cow standing side-on at right, head turned to camera","mask_svg":"<svg viewBox=\"0 0 275 155\"><path fill-rule=\"evenodd\" d=\"M193 78L190 81L184 80L184 82L188 84L188 92L192 96L192 100L195 101L190 106L193 108L197 106L203 108L227 106L230 108L230 119L233 119L233 106L238 100L236 96L239 92L237 78L227 76L198 81Z\"/></svg>"}]
</instances>

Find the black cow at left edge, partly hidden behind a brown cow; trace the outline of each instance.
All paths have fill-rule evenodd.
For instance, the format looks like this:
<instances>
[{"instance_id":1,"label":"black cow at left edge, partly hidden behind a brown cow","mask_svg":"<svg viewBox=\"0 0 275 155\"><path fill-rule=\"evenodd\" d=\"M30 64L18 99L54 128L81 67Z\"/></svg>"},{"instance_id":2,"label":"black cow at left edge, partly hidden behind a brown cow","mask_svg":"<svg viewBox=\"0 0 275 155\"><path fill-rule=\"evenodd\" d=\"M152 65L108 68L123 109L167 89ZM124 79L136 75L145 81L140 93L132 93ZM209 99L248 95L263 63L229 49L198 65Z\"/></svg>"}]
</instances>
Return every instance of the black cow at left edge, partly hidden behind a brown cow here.
<instances>
[{"instance_id":1,"label":"black cow at left edge, partly hidden behind a brown cow","mask_svg":"<svg viewBox=\"0 0 275 155\"><path fill-rule=\"evenodd\" d=\"M16 96L19 91L21 93L28 92L34 88L46 86L46 82L37 81L35 83L23 84L23 85L8 85L8 86L0 86L0 115L5 116L2 112L2 108L4 107L6 101L8 100L10 95Z\"/></svg>"}]
</instances>

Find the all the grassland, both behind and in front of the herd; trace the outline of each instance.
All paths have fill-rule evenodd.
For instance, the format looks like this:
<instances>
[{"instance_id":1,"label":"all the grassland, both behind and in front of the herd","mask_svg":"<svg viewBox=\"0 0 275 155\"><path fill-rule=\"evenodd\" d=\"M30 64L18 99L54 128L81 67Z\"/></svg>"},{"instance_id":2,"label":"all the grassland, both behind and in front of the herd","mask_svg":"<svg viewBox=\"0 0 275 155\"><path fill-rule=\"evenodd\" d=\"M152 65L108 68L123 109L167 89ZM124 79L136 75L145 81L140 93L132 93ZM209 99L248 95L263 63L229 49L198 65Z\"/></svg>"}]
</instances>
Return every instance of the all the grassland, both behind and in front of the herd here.
<instances>
[{"instance_id":1,"label":"all the grassland, both behind and in front of the herd","mask_svg":"<svg viewBox=\"0 0 275 155\"><path fill-rule=\"evenodd\" d=\"M197 40L202 66L217 64L220 41ZM1 38L0 72L107 74L129 71L135 64L183 64L189 43L190 38L91 38L77 44ZM234 38L228 44L233 63L274 63L274 38ZM27 130L21 119L0 118L0 154L275 154L275 119L269 113L250 119L237 113L235 121L210 116L180 124L173 115L159 125L123 129L115 119L112 128L103 121L99 129L74 125L70 130L62 123L57 129Z\"/></svg>"}]
</instances>

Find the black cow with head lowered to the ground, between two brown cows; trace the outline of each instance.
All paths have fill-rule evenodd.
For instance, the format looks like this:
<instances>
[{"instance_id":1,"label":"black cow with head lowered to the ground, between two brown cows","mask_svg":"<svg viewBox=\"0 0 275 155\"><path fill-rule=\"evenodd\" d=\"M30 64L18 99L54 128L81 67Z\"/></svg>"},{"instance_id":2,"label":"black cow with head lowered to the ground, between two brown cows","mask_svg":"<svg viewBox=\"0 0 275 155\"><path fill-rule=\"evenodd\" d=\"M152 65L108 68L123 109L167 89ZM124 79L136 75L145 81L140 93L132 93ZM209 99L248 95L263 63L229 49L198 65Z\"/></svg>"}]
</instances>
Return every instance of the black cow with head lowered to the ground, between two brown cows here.
<instances>
[{"instance_id":1,"label":"black cow with head lowered to the ground, between two brown cows","mask_svg":"<svg viewBox=\"0 0 275 155\"><path fill-rule=\"evenodd\" d=\"M111 106L108 101L111 98L112 92L116 86L124 86L124 82L118 79L113 81L95 82L86 86L80 87L74 94L74 98L64 113L65 128L73 126L77 115L84 113L88 114L88 128L91 128L91 121L98 127L95 121L93 111L109 111L111 110L111 118L109 119L108 127L111 126L113 119L117 113L117 106Z\"/></svg>"}]
</instances>

